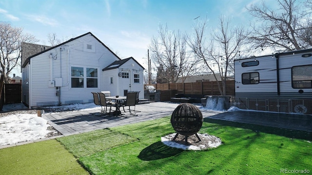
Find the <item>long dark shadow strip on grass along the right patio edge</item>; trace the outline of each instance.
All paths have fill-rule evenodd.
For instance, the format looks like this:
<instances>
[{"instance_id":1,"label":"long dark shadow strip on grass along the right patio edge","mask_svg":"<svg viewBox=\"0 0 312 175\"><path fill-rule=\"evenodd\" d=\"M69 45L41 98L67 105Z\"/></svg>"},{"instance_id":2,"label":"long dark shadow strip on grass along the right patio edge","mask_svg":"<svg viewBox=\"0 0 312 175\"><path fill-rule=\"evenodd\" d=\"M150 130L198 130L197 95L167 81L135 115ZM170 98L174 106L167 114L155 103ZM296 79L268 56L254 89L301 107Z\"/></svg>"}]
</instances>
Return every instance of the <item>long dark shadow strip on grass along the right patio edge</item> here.
<instances>
[{"instance_id":1,"label":"long dark shadow strip on grass along the right patio edge","mask_svg":"<svg viewBox=\"0 0 312 175\"><path fill-rule=\"evenodd\" d=\"M276 127L271 127L271 126L263 126L263 125L248 124L248 123L237 123L237 122L230 122L230 121L223 121L223 120L209 119L209 118L205 118L204 122L250 129L253 131L260 131L263 133L284 136L284 137L288 137L292 139L312 140L311 132L276 128Z\"/></svg>"}]
</instances>

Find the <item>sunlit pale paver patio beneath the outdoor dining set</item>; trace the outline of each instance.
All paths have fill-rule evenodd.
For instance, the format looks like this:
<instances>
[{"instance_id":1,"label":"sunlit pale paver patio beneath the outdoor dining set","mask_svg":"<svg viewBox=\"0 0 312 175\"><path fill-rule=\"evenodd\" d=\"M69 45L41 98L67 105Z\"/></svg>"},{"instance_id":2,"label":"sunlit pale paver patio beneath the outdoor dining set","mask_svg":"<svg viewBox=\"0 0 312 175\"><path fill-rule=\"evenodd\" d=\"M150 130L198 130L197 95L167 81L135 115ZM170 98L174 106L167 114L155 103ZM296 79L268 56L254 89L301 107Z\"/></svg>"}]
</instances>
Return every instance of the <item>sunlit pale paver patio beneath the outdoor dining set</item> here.
<instances>
[{"instance_id":1,"label":"sunlit pale paver patio beneath the outdoor dining set","mask_svg":"<svg viewBox=\"0 0 312 175\"><path fill-rule=\"evenodd\" d=\"M129 110L124 112L122 109L122 116L101 115L101 108L98 107L97 110L46 113L42 115L42 118L48 120L49 124L57 129L62 135L68 136L96 129L104 129L130 123L139 123L170 116L178 105L179 104L165 102L136 105L137 115L131 115ZM125 109L127 108L125 107ZM134 107L132 106L131 109L134 109ZM223 112L208 110L202 111L204 117L209 117L219 113Z\"/></svg>"}]
</instances>

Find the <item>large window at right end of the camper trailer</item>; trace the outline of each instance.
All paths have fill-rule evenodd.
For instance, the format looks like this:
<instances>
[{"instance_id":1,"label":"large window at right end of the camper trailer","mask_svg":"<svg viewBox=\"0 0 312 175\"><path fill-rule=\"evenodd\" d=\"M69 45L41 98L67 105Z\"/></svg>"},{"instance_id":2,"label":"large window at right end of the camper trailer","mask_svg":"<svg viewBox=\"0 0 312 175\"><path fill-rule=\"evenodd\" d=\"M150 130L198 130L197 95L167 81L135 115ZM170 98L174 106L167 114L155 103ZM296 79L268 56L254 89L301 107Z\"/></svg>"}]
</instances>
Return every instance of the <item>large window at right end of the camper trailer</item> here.
<instances>
[{"instance_id":1,"label":"large window at right end of the camper trailer","mask_svg":"<svg viewBox=\"0 0 312 175\"><path fill-rule=\"evenodd\" d=\"M312 65L292 67L292 88L312 88Z\"/></svg>"}]
</instances>

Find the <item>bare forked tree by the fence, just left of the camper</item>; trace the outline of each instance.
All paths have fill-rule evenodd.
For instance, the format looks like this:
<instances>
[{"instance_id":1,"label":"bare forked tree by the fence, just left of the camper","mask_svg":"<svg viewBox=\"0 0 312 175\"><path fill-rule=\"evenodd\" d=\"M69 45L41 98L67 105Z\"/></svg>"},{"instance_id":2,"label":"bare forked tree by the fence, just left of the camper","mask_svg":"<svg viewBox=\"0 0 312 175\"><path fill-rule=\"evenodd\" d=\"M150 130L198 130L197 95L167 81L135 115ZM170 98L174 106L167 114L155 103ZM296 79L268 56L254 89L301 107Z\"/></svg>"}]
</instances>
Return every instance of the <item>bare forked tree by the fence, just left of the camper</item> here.
<instances>
[{"instance_id":1,"label":"bare forked tree by the fence, just left of the camper","mask_svg":"<svg viewBox=\"0 0 312 175\"><path fill-rule=\"evenodd\" d=\"M231 65L245 40L244 27L236 25L231 28L230 19L220 17L217 28L206 38L208 20L205 18L194 26L194 36L189 38L189 45L196 57L204 63L204 67L214 74L221 95L226 95L226 79ZM221 78L222 87L218 81Z\"/></svg>"}]
</instances>

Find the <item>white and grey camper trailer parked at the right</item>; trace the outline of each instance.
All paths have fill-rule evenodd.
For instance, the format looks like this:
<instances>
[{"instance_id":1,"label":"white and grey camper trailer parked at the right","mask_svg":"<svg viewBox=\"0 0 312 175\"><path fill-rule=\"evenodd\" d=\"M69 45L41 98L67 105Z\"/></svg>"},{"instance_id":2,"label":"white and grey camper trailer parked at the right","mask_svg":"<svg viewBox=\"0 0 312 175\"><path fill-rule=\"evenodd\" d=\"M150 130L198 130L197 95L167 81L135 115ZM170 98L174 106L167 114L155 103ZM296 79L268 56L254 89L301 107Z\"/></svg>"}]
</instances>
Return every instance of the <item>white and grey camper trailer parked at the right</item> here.
<instances>
[{"instance_id":1,"label":"white and grey camper trailer parked at the right","mask_svg":"<svg viewBox=\"0 0 312 175\"><path fill-rule=\"evenodd\" d=\"M312 114L312 49L234 60L234 105Z\"/></svg>"}]
</instances>

